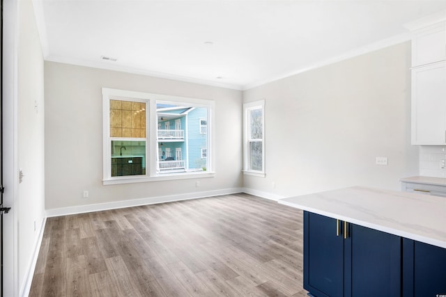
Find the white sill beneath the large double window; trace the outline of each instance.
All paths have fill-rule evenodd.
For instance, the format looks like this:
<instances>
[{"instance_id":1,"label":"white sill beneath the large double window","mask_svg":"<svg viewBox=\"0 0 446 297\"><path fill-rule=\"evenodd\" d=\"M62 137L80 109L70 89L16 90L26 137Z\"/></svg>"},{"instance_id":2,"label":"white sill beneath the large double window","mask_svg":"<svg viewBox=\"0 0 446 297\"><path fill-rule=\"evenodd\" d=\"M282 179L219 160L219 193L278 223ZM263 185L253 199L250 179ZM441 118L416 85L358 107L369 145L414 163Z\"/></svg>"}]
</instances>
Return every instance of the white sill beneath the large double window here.
<instances>
[{"instance_id":1,"label":"white sill beneath the large double window","mask_svg":"<svg viewBox=\"0 0 446 297\"><path fill-rule=\"evenodd\" d=\"M102 184L107 186L109 184L132 184L136 182L160 182L164 180L178 180L178 179L197 179L205 177L215 177L215 172L200 172L200 173L171 173L169 175L157 175L154 177L148 176L131 176L131 177L114 177L111 179L102 179Z\"/></svg>"}]
</instances>

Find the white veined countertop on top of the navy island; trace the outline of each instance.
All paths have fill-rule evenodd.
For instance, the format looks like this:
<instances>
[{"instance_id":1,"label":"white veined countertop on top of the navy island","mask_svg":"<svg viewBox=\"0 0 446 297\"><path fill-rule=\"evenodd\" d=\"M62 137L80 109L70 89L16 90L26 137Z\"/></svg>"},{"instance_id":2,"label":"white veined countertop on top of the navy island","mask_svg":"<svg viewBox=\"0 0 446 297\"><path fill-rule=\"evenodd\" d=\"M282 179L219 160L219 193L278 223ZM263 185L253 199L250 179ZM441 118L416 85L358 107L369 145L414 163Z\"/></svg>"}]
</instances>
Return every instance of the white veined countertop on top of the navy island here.
<instances>
[{"instance_id":1,"label":"white veined countertop on top of the navy island","mask_svg":"<svg viewBox=\"0 0 446 297\"><path fill-rule=\"evenodd\" d=\"M446 199L355 186L280 204L446 248Z\"/></svg>"}]
</instances>

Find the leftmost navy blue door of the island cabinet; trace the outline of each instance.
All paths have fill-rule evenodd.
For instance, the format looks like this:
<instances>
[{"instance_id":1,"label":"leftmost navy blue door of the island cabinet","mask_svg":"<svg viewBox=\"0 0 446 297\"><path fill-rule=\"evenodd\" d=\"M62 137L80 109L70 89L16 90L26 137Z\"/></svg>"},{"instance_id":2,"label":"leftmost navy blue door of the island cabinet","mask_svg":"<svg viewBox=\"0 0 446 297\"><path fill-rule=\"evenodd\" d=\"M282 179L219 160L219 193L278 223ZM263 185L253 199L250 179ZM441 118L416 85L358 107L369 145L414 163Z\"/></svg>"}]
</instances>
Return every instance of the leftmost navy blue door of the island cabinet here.
<instances>
[{"instance_id":1,"label":"leftmost navy blue door of the island cabinet","mask_svg":"<svg viewBox=\"0 0 446 297\"><path fill-rule=\"evenodd\" d=\"M304 211L304 289L313 296L344 296L341 235L337 220Z\"/></svg>"}]
</instances>

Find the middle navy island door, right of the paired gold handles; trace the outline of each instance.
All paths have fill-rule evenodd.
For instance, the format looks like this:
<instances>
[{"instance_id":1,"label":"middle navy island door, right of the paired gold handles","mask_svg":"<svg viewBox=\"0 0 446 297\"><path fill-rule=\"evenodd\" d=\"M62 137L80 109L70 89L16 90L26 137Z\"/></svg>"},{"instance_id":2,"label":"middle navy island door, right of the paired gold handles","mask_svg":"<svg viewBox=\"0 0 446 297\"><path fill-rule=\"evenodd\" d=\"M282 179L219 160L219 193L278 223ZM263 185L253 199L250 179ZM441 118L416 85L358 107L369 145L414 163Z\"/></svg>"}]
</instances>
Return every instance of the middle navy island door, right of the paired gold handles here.
<instances>
[{"instance_id":1,"label":"middle navy island door, right of the paired gold handles","mask_svg":"<svg viewBox=\"0 0 446 297\"><path fill-rule=\"evenodd\" d=\"M401 296L401 237L351 225L352 296Z\"/></svg>"}]
</instances>

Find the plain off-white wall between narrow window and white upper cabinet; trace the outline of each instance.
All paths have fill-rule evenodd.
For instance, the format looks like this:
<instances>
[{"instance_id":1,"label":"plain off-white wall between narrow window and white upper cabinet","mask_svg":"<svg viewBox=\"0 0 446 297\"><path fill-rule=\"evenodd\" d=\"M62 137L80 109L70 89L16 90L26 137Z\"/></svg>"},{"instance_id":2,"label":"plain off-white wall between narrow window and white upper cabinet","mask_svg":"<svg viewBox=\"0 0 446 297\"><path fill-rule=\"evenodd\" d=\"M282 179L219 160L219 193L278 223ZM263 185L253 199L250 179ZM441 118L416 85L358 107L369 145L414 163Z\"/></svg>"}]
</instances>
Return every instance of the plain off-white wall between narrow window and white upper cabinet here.
<instances>
[{"instance_id":1,"label":"plain off-white wall between narrow window and white upper cabinet","mask_svg":"<svg viewBox=\"0 0 446 297\"><path fill-rule=\"evenodd\" d=\"M418 173L409 69L404 42L246 90L244 102L266 99L266 178L245 176L244 186L277 196L399 190L401 177Z\"/></svg>"}]
</instances>

